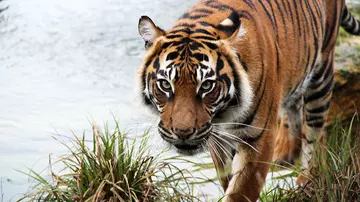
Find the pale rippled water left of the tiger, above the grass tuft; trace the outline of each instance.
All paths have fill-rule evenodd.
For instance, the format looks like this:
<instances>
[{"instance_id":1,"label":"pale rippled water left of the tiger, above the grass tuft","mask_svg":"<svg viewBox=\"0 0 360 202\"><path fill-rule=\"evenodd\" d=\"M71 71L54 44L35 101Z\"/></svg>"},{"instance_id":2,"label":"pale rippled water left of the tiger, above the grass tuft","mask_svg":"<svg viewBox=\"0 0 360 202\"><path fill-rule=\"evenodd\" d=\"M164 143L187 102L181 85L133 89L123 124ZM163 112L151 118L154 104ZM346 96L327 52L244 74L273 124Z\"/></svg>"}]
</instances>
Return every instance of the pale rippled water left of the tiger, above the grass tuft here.
<instances>
[{"instance_id":1,"label":"pale rippled water left of the tiger, above the grass tuft","mask_svg":"<svg viewBox=\"0 0 360 202\"><path fill-rule=\"evenodd\" d=\"M40 169L112 113L133 128L154 118L135 91L144 55L141 15L167 29L196 0L7 0L0 8L0 176L4 201L27 190L14 169ZM170 11L170 12L169 12ZM56 131L55 131L56 129ZM1 187L0 187L1 188ZM1 190L1 189L0 189ZM18 197L15 197L18 198ZM1 199L1 196L0 196Z\"/></svg>"}]
</instances>

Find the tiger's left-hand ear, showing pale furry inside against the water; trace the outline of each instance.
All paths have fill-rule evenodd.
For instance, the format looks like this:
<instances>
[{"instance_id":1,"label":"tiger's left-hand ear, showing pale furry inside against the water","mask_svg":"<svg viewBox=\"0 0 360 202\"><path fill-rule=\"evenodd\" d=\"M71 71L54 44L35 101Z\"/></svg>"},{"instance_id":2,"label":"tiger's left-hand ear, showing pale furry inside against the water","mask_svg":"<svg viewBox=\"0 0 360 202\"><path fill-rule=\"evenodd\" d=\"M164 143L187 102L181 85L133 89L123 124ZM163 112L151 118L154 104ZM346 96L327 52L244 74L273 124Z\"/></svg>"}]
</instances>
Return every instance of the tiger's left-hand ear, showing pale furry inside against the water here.
<instances>
[{"instance_id":1,"label":"tiger's left-hand ear, showing pale furry inside against the water","mask_svg":"<svg viewBox=\"0 0 360 202\"><path fill-rule=\"evenodd\" d=\"M138 30L145 41L146 49L153 45L156 38L165 35L165 31L156 26L148 16L141 16Z\"/></svg>"}]
</instances>

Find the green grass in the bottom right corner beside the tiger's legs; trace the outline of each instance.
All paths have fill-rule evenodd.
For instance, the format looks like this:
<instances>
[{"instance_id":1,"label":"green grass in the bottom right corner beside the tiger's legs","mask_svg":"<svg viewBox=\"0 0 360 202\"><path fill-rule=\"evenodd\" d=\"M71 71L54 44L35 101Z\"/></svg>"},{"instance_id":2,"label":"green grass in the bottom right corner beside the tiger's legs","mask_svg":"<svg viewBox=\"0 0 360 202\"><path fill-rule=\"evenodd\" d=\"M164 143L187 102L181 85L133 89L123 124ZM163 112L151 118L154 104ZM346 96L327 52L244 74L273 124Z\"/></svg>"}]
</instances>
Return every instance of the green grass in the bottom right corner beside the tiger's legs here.
<instances>
[{"instance_id":1,"label":"green grass in the bottom right corner beside the tiger's legs","mask_svg":"<svg viewBox=\"0 0 360 202\"><path fill-rule=\"evenodd\" d=\"M335 123L326 144L317 144L309 182L280 183L263 192L261 201L360 201L360 121ZM280 178L296 177L298 170Z\"/></svg>"}]
</instances>

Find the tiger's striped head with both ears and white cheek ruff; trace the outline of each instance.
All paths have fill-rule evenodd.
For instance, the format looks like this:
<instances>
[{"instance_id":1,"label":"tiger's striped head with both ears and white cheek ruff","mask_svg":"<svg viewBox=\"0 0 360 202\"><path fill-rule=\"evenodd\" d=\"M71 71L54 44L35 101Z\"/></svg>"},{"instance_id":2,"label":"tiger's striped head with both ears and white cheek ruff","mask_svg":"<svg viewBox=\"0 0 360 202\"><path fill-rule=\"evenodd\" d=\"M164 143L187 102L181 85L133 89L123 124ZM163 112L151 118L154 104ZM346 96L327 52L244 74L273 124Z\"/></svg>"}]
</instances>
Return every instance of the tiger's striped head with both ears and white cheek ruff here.
<instances>
[{"instance_id":1,"label":"tiger's striped head with both ears and white cheek ruff","mask_svg":"<svg viewBox=\"0 0 360 202\"><path fill-rule=\"evenodd\" d=\"M147 49L139 70L142 97L160 114L164 140L194 153L220 114L235 116L250 107L249 79L234 48L241 32L238 14L218 25L180 23L170 31L142 16L138 29Z\"/></svg>"}]
</instances>

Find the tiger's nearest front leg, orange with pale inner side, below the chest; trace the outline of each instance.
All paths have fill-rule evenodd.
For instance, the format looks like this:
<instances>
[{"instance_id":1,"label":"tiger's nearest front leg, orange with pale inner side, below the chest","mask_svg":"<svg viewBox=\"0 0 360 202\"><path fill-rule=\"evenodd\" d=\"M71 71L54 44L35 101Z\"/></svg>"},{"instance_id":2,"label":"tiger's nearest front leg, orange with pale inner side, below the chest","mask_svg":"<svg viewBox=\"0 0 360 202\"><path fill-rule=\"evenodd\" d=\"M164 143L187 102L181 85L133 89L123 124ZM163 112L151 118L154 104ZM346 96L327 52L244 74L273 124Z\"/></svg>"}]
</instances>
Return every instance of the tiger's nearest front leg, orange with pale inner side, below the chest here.
<instances>
[{"instance_id":1,"label":"tiger's nearest front leg, orange with pale inner side, below the chest","mask_svg":"<svg viewBox=\"0 0 360 202\"><path fill-rule=\"evenodd\" d=\"M274 150L274 131L267 130L249 147L239 143L223 202L256 201L259 198Z\"/></svg>"}]
</instances>

